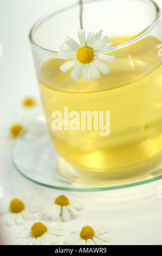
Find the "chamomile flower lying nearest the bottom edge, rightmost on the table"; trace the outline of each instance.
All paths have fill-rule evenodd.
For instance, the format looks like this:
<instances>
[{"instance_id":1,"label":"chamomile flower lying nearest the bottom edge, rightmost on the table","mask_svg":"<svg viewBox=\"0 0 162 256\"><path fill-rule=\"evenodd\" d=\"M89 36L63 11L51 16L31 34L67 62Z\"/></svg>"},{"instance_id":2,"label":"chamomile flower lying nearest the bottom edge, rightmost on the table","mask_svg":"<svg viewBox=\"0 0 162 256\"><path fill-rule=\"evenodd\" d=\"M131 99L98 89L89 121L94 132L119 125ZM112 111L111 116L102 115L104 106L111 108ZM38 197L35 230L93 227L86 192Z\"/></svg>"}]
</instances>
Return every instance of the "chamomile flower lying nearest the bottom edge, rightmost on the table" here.
<instances>
[{"instance_id":1,"label":"chamomile flower lying nearest the bottom edge, rightmost on the table","mask_svg":"<svg viewBox=\"0 0 162 256\"><path fill-rule=\"evenodd\" d=\"M107 245L110 241L107 233L110 231L111 229L105 228L103 224L94 224L92 227L87 225L66 237L64 243L66 245Z\"/></svg>"}]
</instances>

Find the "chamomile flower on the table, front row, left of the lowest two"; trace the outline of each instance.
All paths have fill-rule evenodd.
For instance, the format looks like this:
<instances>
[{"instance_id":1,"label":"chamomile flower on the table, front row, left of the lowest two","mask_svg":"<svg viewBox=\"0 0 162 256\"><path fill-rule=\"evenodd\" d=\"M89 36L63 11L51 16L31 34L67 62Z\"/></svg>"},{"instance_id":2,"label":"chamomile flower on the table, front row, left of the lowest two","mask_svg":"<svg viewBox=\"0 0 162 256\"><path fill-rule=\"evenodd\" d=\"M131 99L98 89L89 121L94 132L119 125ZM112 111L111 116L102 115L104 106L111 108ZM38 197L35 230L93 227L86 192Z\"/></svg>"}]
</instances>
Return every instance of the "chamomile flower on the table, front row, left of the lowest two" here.
<instances>
[{"instance_id":1,"label":"chamomile flower on the table, front row, left of the lowest two","mask_svg":"<svg viewBox=\"0 0 162 256\"><path fill-rule=\"evenodd\" d=\"M66 233L60 225L36 222L18 233L17 245L53 245L64 235Z\"/></svg>"}]
</instances>

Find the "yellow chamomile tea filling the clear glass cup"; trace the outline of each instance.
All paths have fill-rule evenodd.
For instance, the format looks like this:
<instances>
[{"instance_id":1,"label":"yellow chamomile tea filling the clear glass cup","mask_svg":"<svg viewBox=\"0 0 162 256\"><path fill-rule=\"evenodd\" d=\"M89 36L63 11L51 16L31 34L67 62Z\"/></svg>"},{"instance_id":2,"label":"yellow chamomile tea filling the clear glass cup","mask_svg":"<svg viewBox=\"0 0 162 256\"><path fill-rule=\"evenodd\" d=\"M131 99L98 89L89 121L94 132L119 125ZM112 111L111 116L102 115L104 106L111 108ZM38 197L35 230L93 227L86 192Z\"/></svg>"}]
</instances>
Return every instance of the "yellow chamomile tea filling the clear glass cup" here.
<instances>
[{"instance_id":1,"label":"yellow chamomile tea filling the clear glass cup","mask_svg":"<svg viewBox=\"0 0 162 256\"><path fill-rule=\"evenodd\" d=\"M127 36L128 38L128 36ZM124 38L112 40L123 41ZM151 36L112 52L108 75L90 82L63 73L66 60L52 58L41 68L40 90L51 139L64 159L77 166L109 172L138 166L162 150L162 65L160 41ZM109 53L108 55L111 55ZM54 111L110 111L110 134L100 130L51 129Z\"/></svg>"}]
</instances>

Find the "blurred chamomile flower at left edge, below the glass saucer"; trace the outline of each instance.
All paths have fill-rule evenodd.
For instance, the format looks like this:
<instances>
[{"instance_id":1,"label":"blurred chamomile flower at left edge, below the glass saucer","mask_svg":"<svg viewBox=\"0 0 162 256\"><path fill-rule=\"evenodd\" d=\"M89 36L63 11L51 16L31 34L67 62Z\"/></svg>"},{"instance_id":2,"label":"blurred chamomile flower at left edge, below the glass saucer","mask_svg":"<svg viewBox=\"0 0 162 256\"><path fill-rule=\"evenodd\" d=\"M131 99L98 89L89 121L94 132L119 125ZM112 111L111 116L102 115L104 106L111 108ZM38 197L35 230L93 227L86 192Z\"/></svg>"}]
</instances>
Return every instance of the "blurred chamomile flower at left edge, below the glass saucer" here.
<instances>
[{"instance_id":1,"label":"blurred chamomile flower at left edge, below the glass saucer","mask_svg":"<svg viewBox=\"0 0 162 256\"><path fill-rule=\"evenodd\" d=\"M10 227L34 220L34 213L42 210L42 204L33 198L14 198L0 210L1 223Z\"/></svg>"}]
</instances>

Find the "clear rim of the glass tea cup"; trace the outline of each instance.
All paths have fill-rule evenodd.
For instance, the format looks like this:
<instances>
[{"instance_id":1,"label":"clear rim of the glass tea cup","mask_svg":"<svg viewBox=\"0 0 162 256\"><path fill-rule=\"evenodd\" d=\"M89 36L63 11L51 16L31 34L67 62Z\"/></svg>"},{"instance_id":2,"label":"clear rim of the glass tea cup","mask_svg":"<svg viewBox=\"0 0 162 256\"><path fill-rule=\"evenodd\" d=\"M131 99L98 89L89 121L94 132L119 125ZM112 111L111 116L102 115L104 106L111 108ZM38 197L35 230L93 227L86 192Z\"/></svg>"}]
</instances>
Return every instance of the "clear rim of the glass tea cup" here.
<instances>
[{"instance_id":1,"label":"clear rim of the glass tea cup","mask_svg":"<svg viewBox=\"0 0 162 256\"><path fill-rule=\"evenodd\" d=\"M85 2L83 4L88 4L88 3L93 3L93 2L99 2L100 0L85 0ZM116 0L102 0L102 1L116 1ZM122 1L122 0L121 0ZM132 36L131 38L128 38L122 42L119 42L118 44L115 44L113 48L111 48L109 51L114 51L117 50L118 48L121 47L125 47L129 44L133 44L135 41L138 41L142 38L144 38L145 35L147 35L148 33L150 33L152 31L152 29L157 25L157 22L160 19L161 16L161 10L159 8L159 5L157 3L155 3L153 0L125 0L125 1L137 1L137 2L144 2L150 5L153 5L155 10L156 10L156 15L154 20L150 23L150 25L148 27L146 27L143 31L139 32L138 34ZM64 5L63 7L59 8L59 9L54 9L52 11L49 11L47 14L43 15L40 19L38 19L33 27L31 27L30 32L29 32L29 40L30 43L33 47L36 48L37 51L39 52L44 52L48 55L51 56L57 56L57 51L52 51L52 50L48 50L47 48L43 48L40 45L36 44L36 42L33 39L33 33L34 33L34 29L36 27L40 27L42 25L42 23L46 20L48 20L49 18L56 16L59 13L62 13L63 11L66 11L68 9L74 8L76 6L79 5L79 2L73 2L67 5Z\"/></svg>"}]
</instances>

